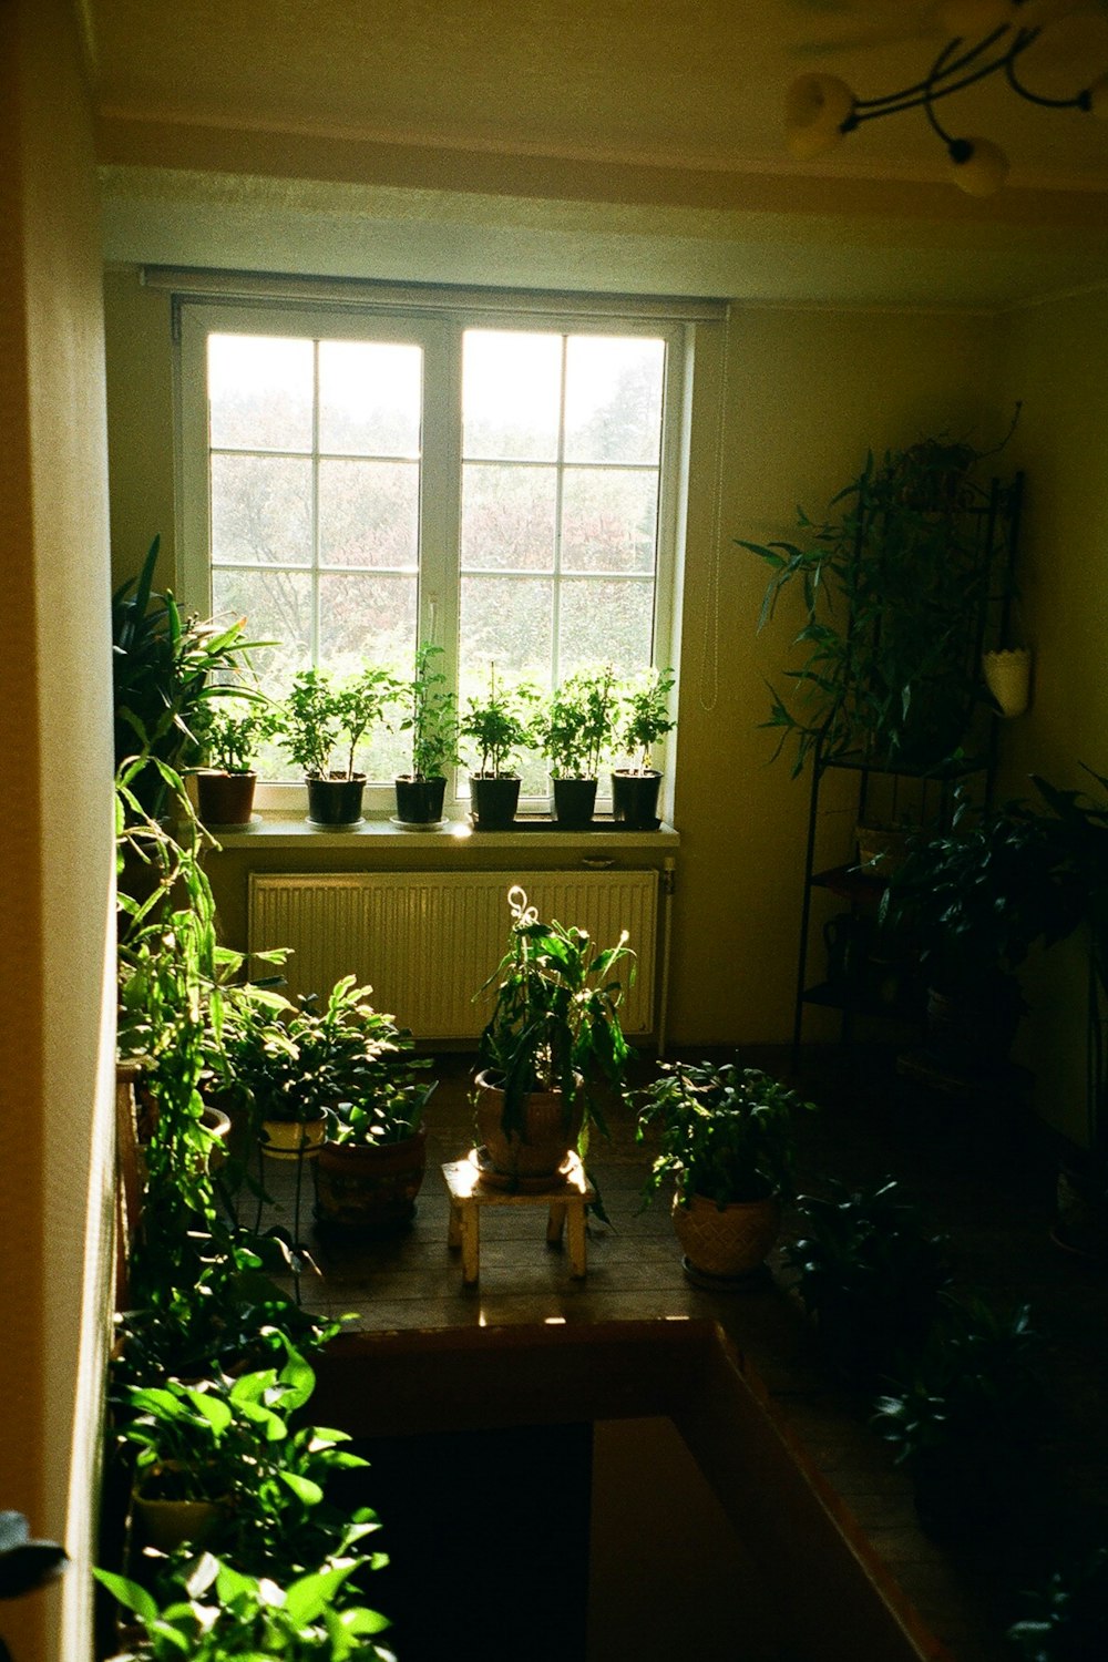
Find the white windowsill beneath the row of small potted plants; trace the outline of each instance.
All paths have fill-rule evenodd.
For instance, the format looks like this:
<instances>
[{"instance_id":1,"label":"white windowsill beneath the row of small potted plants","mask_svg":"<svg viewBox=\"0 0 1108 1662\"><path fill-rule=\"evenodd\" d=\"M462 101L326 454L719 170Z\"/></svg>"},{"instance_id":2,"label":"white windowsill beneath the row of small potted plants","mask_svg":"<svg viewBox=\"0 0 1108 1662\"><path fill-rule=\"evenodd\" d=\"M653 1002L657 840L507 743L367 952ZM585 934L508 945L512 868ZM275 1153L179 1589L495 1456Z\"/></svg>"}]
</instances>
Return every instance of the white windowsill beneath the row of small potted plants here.
<instances>
[{"instance_id":1,"label":"white windowsill beneath the row of small potted plants","mask_svg":"<svg viewBox=\"0 0 1108 1662\"><path fill-rule=\"evenodd\" d=\"M246 844L264 843L266 848L297 848L311 843L314 848L357 848L372 843L384 848L389 843L427 843L437 854L467 848L565 848L581 853L615 854L628 849L678 848L681 834L671 824L663 824L656 831L631 831L616 826L603 814L595 819L586 831L565 831L545 814L520 816L507 831L477 831L468 819L449 819L442 826L404 828L387 818L367 818L359 826L347 829L319 829L307 819L292 819L282 814L256 814L249 826L221 828L213 833L216 843L226 849L241 849Z\"/></svg>"}]
</instances>

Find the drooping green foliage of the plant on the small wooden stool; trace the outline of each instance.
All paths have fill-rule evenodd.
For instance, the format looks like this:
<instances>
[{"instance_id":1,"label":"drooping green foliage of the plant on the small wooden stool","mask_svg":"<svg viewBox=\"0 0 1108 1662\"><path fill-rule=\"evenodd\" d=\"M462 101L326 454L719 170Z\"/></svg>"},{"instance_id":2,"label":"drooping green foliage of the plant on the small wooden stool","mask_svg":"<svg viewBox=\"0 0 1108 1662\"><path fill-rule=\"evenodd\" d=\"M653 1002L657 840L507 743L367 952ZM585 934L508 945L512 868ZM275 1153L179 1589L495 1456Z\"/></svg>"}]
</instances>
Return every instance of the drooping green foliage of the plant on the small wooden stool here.
<instances>
[{"instance_id":1,"label":"drooping green foliage of the plant on the small wooden stool","mask_svg":"<svg viewBox=\"0 0 1108 1662\"><path fill-rule=\"evenodd\" d=\"M606 1082L620 1092L631 1059L620 1004L616 971L635 974L626 932L601 951L586 929L542 922L520 888L508 891L512 929L508 949L480 992L497 989L492 1015L478 1039L482 1067L503 1089L503 1130L520 1133L527 1097L560 1090L566 1124L575 1105L603 1130L595 1089ZM628 986L630 986L628 979Z\"/></svg>"}]
</instances>

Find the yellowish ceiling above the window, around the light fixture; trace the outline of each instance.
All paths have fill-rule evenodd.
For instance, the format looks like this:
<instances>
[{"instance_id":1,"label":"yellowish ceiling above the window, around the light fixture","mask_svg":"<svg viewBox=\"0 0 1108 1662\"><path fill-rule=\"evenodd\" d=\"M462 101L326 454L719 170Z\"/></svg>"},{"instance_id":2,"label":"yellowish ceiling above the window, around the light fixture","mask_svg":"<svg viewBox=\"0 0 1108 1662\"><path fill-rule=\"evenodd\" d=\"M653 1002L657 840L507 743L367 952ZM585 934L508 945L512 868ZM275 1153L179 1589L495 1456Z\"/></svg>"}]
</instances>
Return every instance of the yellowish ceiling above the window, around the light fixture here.
<instances>
[{"instance_id":1,"label":"yellowish ceiling above the window, around the light fixture","mask_svg":"<svg viewBox=\"0 0 1108 1662\"><path fill-rule=\"evenodd\" d=\"M1008 153L998 196L919 110L787 156L792 76L920 80L940 0L78 5L111 259L982 306L1108 279L1108 121L1000 76L944 103ZM1020 20L1037 91L1108 71L1105 0Z\"/></svg>"}]
</instances>

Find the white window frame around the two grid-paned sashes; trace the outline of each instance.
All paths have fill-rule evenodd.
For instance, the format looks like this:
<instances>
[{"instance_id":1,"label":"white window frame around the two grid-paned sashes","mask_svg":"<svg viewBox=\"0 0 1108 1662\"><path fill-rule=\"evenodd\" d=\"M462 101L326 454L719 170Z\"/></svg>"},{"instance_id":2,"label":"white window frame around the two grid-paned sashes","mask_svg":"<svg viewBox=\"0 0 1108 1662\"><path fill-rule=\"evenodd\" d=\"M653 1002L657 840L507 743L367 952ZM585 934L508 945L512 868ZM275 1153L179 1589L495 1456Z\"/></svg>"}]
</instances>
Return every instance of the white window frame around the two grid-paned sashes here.
<instances>
[{"instance_id":1,"label":"white window frame around the two grid-paned sashes","mask_svg":"<svg viewBox=\"0 0 1108 1662\"><path fill-rule=\"evenodd\" d=\"M151 276L146 274L151 283ZM417 638L444 648L442 666L457 686L460 597L460 480L462 480L462 336L470 327L535 329L568 334L638 334L666 342L659 459L658 537L655 568L653 661L676 666L676 580L679 530L684 525L688 430L684 412L691 389L693 324L714 321L711 302L658 302L615 297L528 296L523 293L394 291L374 284L317 286L301 294L297 284L274 279L262 288L239 279L213 296L211 279L189 284L181 274L154 274L153 283L174 291L178 573L181 600L191 612L211 615L211 527L208 479L206 356L211 332L302 334L322 339L412 341L424 349L424 429L420 469L420 562L417 580ZM359 289L354 301L351 288ZM369 291L369 293L365 293ZM693 311L693 316L686 316ZM656 763L664 765L664 746ZM455 776L447 811L465 813L468 798ZM306 809L302 783L259 781L259 809L299 816ZM387 816L395 798L390 781L369 781L365 813ZM547 798L520 803L520 811L543 811ZM601 783L598 809L610 806Z\"/></svg>"}]
</instances>

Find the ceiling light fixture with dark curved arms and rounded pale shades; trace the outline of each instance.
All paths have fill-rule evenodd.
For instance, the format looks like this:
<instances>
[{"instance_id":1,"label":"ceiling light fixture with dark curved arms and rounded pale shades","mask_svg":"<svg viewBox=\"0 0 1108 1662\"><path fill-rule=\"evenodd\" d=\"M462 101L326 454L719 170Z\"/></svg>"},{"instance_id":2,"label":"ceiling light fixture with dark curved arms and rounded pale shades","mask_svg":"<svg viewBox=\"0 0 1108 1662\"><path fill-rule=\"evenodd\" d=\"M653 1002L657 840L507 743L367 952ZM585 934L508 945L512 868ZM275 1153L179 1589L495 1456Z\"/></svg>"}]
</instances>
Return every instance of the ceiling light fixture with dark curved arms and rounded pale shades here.
<instances>
[{"instance_id":1,"label":"ceiling light fixture with dark curved arms and rounded pale shades","mask_svg":"<svg viewBox=\"0 0 1108 1662\"><path fill-rule=\"evenodd\" d=\"M1027 7L1027 12L1022 12ZM962 91L987 75L1003 71L1013 93L1048 110L1081 110L1108 118L1108 73L1071 98L1045 98L1023 85L1018 61L1043 33L1045 22L1025 27L1027 18L1053 17L1071 5L1043 5L1042 0L949 0L939 17L950 32L922 81L880 98L856 98L837 75L801 75L786 93L786 143L797 161L811 161L837 145L862 121L902 110L922 110L947 148L950 178L970 196L992 196L1003 184L1008 158L988 138L957 138L935 115L939 98ZM973 42L977 42L973 45Z\"/></svg>"}]
</instances>

